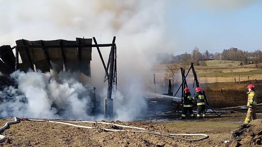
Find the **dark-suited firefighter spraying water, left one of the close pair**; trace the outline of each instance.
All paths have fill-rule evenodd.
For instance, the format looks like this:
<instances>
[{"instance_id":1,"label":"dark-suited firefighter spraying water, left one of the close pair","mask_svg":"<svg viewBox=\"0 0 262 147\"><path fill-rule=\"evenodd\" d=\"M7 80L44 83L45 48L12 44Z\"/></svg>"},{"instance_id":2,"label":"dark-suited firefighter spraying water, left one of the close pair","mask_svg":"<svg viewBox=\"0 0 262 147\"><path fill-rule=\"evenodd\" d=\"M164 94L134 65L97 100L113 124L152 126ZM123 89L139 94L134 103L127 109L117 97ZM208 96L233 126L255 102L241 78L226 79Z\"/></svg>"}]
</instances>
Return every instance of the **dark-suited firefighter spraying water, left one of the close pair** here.
<instances>
[{"instance_id":1,"label":"dark-suited firefighter spraying water, left one of the close pair","mask_svg":"<svg viewBox=\"0 0 262 147\"><path fill-rule=\"evenodd\" d=\"M184 91L185 91L185 96L181 99L182 102L184 101L184 108L183 108L181 119L185 119L187 111L189 111L191 118L194 118L194 114L193 114L193 110L192 110L191 93L189 92L189 88L185 88Z\"/></svg>"}]
</instances>

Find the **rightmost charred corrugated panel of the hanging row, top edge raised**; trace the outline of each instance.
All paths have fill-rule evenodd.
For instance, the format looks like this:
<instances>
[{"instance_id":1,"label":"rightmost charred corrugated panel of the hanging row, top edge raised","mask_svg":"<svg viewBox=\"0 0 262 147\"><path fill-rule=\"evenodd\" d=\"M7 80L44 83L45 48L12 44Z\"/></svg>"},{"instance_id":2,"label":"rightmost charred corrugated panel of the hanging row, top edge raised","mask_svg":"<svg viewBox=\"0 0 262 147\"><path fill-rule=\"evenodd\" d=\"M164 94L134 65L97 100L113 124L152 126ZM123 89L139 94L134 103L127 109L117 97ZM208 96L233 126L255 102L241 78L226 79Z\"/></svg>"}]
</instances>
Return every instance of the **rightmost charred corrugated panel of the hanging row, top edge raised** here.
<instances>
[{"instance_id":1,"label":"rightmost charred corrugated panel of the hanging row, top edge raised","mask_svg":"<svg viewBox=\"0 0 262 147\"><path fill-rule=\"evenodd\" d=\"M76 38L77 43L80 45L92 44L92 39ZM78 48L80 53L79 71L84 75L91 77L90 60L92 60L92 48Z\"/></svg>"}]
</instances>

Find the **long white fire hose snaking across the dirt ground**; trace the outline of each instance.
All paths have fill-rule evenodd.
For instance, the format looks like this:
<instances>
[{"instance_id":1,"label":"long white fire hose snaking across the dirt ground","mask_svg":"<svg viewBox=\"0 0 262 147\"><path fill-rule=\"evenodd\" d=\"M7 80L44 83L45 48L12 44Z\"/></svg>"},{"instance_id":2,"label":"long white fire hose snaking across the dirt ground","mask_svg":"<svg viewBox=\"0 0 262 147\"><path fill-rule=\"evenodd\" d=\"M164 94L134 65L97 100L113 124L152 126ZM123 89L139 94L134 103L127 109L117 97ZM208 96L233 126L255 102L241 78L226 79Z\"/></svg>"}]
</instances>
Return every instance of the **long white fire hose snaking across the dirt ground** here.
<instances>
[{"instance_id":1,"label":"long white fire hose snaking across the dirt ground","mask_svg":"<svg viewBox=\"0 0 262 147\"><path fill-rule=\"evenodd\" d=\"M12 122L6 122L6 124L0 128L0 131L5 130L7 128L8 125L10 124L15 124L18 122L18 120L21 121L33 121L33 122L55 122L55 123L61 123L61 124L65 124L65 125L70 125L70 126L76 126L76 127L81 127L81 128L87 128L87 129L94 129L96 127L89 127L89 126L80 126L80 125L74 125L74 124L70 124L70 123L80 123L80 122L85 122L85 123L101 123L101 124L107 124L107 125L115 125L115 126L120 126L120 127L124 127L124 128L134 128L134 129L139 129L139 130L145 130L145 128L139 128L139 127L133 127L133 126L124 126L124 125L118 125L118 124L113 124L113 123L108 123L108 122L89 122L89 121L59 121L59 120L51 120L51 119L23 119L23 118L16 118L14 117L14 121ZM161 134L158 132L147 132L147 131L136 131L136 130L116 130L116 129L105 129L105 128L97 128L97 129L103 129L106 131L131 131L134 133L149 133L149 134L154 134L154 135L160 135L160 136L165 136L165 137L170 137L170 138L179 138L179 139L184 139L187 141L200 141L203 139L208 138L209 136L206 134L169 134L169 135L165 135L165 134ZM175 137L175 136L171 136L171 135L183 135L183 136L196 136L196 135L201 135L204 136L202 138L199 139L185 139L185 138L180 138L180 137ZM6 137L3 135L0 135L0 143L4 142L6 140Z\"/></svg>"}]
</instances>

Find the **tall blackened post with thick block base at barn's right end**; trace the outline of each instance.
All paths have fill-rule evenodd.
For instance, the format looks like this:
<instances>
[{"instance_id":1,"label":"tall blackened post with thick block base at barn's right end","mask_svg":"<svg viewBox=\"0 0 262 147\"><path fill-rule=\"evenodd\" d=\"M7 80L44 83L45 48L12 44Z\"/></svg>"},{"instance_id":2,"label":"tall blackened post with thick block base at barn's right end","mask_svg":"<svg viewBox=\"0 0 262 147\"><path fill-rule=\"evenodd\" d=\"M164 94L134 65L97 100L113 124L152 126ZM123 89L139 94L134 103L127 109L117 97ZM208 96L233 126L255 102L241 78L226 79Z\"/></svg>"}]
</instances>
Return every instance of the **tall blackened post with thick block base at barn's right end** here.
<instances>
[{"instance_id":1,"label":"tall blackened post with thick block base at barn's right end","mask_svg":"<svg viewBox=\"0 0 262 147\"><path fill-rule=\"evenodd\" d=\"M94 38L94 37L93 37ZM116 37L113 37L113 43L115 42ZM95 39L94 39L95 40ZM99 48L97 48L99 50ZM108 74L108 89L107 89L107 97L105 99L105 117L113 118L113 99L112 99L112 88L113 88L113 74L114 74L114 60L115 60L115 47L112 46L110 53L110 65L109 65L109 74ZM105 63L104 63L104 68Z\"/></svg>"}]
</instances>

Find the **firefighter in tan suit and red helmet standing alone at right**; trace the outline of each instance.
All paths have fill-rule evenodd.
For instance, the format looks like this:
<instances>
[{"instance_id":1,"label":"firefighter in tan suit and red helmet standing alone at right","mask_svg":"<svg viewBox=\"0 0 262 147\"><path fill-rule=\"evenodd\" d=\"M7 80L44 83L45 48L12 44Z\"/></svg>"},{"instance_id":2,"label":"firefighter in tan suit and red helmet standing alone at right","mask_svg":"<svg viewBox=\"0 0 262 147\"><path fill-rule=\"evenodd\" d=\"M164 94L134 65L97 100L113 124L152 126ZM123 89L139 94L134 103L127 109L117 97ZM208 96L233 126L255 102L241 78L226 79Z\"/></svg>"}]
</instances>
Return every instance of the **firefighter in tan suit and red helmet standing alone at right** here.
<instances>
[{"instance_id":1,"label":"firefighter in tan suit and red helmet standing alone at right","mask_svg":"<svg viewBox=\"0 0 262 147\"><path fill-rule=\"evenodd\" d=\"M248 85L248 112L247 117L245 119L245 123L250 122L251 117L252 120L256 119L256 107L257 107L257 95L255 92L255 86L253 84Z\"/></svg>"}]
</instances>

